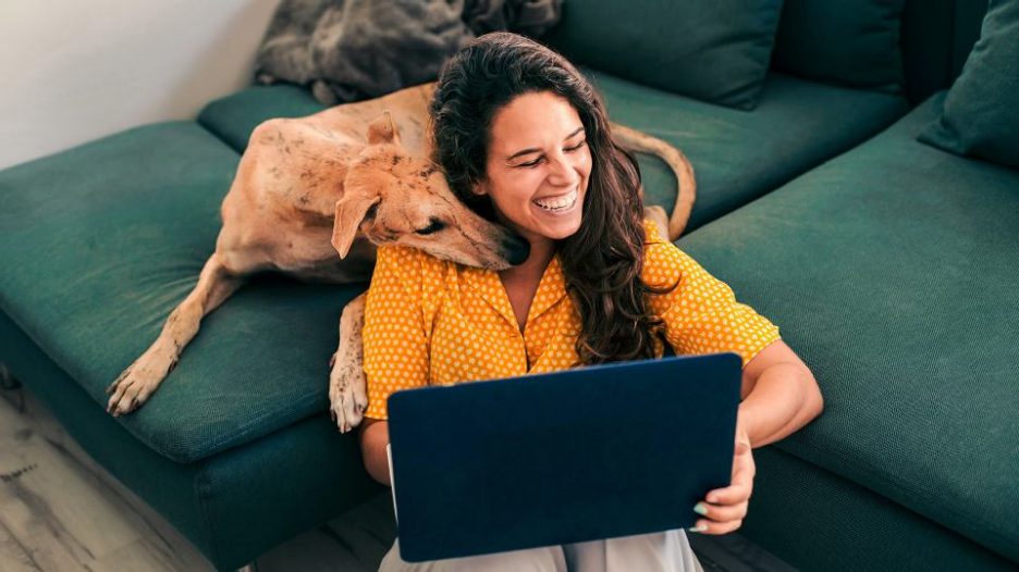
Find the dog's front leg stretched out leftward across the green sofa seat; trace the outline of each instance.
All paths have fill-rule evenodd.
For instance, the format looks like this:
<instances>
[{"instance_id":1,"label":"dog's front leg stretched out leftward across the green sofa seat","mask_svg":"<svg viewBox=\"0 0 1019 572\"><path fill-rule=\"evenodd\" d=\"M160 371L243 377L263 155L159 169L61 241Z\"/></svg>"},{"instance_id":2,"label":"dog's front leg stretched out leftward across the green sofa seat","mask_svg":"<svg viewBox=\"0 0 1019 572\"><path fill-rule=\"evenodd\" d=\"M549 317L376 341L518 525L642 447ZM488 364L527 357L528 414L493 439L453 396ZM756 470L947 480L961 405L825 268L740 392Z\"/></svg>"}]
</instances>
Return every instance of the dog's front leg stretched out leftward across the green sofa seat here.
<instances>
[{"instance_id":1,"label":"dog's front leg stretched out leftward across the green sofa seat","mask_svg":"<svg viewBox=\"0 0 1019 572\"><path fill-rule=\"evenodd\" d=\"M201 319L229 298L243 283L231 273L219 252L201 269L198 284L163 325L156 341L107 387L107 412L130 413L144 403L176 364L184 346L198 333Z\"/></svg>"}]
</instances>

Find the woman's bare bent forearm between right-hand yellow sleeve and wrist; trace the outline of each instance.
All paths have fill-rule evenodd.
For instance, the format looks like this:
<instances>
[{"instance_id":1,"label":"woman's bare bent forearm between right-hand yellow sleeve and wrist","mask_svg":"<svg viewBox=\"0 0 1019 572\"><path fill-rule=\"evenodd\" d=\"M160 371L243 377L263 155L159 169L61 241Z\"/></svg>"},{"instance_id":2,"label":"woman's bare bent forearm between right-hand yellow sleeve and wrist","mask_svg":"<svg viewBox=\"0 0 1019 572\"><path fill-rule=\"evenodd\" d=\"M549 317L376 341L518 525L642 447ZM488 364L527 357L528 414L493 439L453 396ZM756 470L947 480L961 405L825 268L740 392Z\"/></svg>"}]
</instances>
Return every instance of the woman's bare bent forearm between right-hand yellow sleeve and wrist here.
<instances>
[{"instance_id":1,"label":"woman's bare bent forearm between right-hand yellow sleeve and wrist","mask_svg":"<svg viewBox=\"0 0 1019 572\"><path fill-rule=\"evenodd\" d=\"M781 339L747 362L740 395L737 425L746 432L751 447L786 437L824 408L810 369Z\"/></svg>"}]
</instances>

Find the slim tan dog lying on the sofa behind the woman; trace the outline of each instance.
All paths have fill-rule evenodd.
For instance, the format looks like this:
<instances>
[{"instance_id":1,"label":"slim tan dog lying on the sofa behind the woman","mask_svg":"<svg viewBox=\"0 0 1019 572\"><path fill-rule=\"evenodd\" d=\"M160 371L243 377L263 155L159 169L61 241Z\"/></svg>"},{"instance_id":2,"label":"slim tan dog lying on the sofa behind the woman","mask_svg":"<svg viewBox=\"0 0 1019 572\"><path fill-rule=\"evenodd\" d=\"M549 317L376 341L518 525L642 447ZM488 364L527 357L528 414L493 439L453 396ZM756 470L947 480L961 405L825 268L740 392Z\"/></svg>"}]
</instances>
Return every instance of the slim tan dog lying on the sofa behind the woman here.
<instances>
[{"instance_id":1,"label":"slim tan dog lying on the sofa behind the woman","mask_svg":"<svg viewBox=\"0 0 1019 572\"><path fill-rule=\"evenodd\" d=\"M366 282L376 246L392 243L491 270L526 260L526 240L461 203L429 159L433 91L434 84L426 84L256 127L223 199L216 251L156 341L107 388L107 411L116 416L140 407L176 364L201 319L255 272ZM672 217L666 222L661 207L646 214L663 235L667 228L670 238L677 238L695 199L689 161L664 141L621 125L612 129L619 145L658 154L676 173ZM331 362L331 414L341 432L357 426L368 407L360 338L365 299L361 294L343 309Z\"/></svg>"}]
</instances>

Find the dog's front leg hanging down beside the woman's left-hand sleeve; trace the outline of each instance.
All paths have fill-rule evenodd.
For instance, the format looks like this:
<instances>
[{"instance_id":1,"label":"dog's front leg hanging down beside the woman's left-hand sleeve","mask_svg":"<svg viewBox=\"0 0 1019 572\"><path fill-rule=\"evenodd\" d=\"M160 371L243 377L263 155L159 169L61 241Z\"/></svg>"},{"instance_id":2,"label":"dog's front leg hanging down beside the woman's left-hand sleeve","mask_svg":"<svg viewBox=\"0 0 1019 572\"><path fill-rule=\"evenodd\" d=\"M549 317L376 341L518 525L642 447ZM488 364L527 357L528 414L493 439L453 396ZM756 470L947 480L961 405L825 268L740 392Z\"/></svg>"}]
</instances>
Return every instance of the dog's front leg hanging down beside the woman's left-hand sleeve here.
<instances>
[{"instance_id":1,"label":"dog's front leg hanging down beside the woman's left-hand sleeve","mask_svg":"<svg viewBox=\"0 0 1019 572\"><path fill-rule=\"evenodd\" d=\"M360 424L368 409L361 327L368 294L351 300L340 316L340 348L333 353L329 374L330 416L346 433Z\"/></svg>"}]
</instances>

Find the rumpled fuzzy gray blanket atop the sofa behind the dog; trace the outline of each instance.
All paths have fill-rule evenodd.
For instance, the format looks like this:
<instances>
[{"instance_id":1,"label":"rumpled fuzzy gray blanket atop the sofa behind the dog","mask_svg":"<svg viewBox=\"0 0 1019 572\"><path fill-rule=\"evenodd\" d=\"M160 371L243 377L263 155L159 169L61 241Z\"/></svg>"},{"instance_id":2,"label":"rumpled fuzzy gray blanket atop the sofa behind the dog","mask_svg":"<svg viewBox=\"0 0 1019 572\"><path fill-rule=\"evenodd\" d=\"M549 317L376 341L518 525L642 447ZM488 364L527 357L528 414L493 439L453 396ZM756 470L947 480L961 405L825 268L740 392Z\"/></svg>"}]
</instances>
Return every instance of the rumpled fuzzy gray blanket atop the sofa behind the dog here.
<instances>
[{"instance_id":1,"label":"rumpled fuzzy gray blanket atop the sofa behind the dog","mask_svg":"<svg viewBox=\"0 0 1019 572\"><path fill-rule=\"evenodd\" d=\"M282 0L262 38L256 78L311 88L328 105L435 79L471 38L539 37L563 0Z\"/></svg>"}]
</instances>

